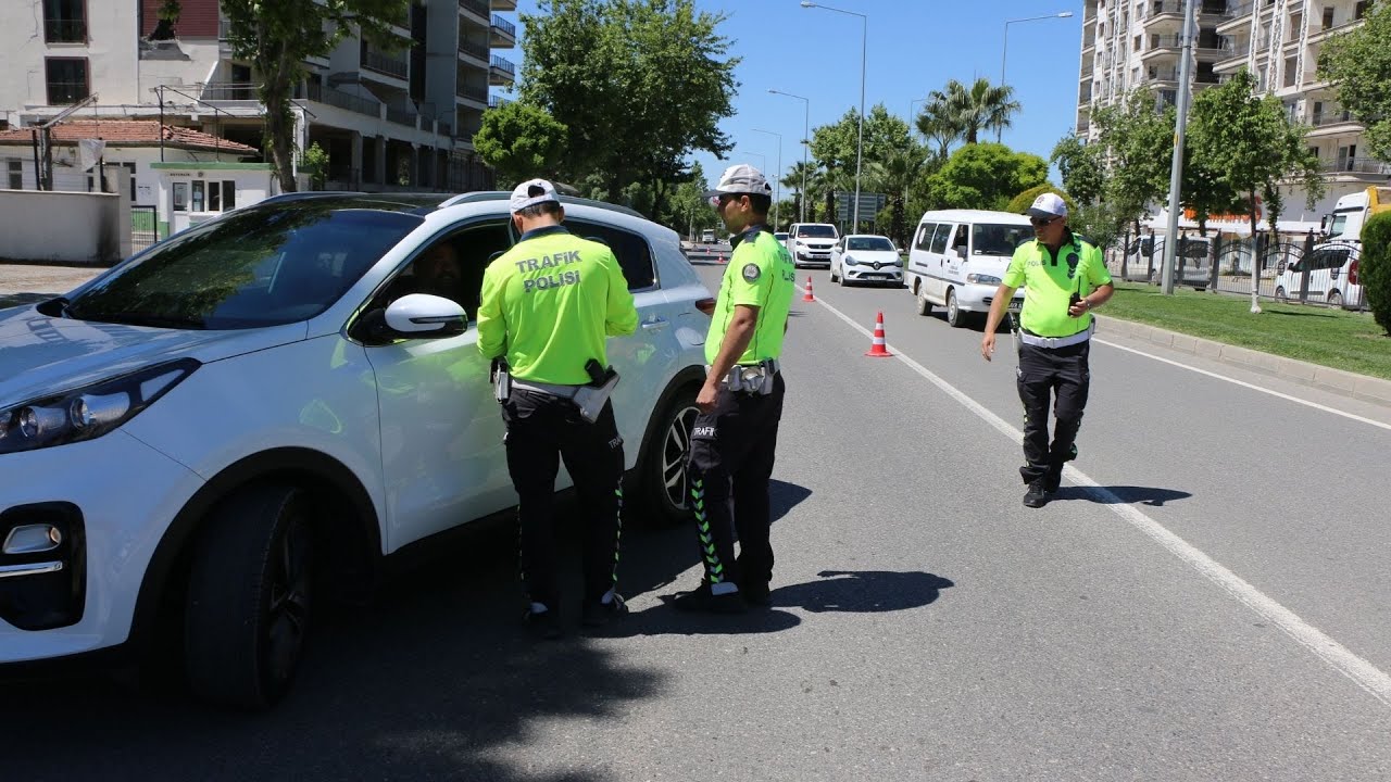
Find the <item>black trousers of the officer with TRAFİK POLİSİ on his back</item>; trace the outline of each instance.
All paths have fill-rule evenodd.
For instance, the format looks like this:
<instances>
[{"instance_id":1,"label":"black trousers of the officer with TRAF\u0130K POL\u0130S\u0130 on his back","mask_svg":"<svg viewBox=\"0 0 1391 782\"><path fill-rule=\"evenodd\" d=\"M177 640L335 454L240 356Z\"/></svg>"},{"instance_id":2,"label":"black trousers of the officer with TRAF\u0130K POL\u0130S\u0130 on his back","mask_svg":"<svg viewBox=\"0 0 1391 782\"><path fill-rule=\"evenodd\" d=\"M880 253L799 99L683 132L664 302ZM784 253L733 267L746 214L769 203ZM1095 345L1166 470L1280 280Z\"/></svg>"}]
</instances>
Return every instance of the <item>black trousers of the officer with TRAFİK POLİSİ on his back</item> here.
<instances>
[{"instance_id":1,"label":"black trousers of the officer with TRAF\u0130K POL\u0130S\u0130 on his back","mask_svg":"<svg viewBox=\"0 0 1391 782\"><path fill-rule=\"evenodd\" d=\"M502 420L508 472L519 500L522 580L529 600L547 608L558 608L561 601L554 512L559 459L574 480L584 518L584 600L600 600L618 583L622 532L623 438L613 405L604 405L598 420L588 423L569 399L513 388L502 404Z\"/></svg>"}]
</instances>

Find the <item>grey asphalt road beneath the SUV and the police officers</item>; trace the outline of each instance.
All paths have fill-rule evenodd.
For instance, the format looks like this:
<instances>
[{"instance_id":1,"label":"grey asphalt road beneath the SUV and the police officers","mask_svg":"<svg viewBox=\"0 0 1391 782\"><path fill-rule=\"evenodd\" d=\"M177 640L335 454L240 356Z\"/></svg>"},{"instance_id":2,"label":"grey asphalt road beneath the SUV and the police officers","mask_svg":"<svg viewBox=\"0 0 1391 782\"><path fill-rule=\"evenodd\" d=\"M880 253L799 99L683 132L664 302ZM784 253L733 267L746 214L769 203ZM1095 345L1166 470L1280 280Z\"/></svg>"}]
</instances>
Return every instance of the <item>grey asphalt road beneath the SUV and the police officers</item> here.
<instances>
[{"instance_id":1,"label":"grey asphalt road beneath the SUV and the police officers","mask_svg":"<svg viewBox=\"0 0 1391 782\"><path fill-rule=\"evenodd\" d=\"M1099 334L1081 458L1031 511L1008 337L988 365L906 291L807 274L771 611L673 614L694 534L633 530L634 614L533 646L484 532L327 621L270 714L0 689L0 775L1391 778L1391 410ZM864 356L881 309L900 359Z\"/></svg>"}]
</instances>

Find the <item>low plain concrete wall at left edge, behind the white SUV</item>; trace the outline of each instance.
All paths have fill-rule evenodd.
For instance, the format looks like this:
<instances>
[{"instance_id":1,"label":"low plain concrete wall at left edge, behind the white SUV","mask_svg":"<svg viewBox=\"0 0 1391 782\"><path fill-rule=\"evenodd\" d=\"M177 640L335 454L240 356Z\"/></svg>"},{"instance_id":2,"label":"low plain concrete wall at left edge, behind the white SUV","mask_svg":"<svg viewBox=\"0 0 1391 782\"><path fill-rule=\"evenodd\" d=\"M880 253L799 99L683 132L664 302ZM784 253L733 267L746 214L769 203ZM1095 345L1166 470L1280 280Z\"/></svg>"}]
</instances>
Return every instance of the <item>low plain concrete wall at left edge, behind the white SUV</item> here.
<instances>
[{"instance_id":1,"label":"low plain concrete wall at left edge, behind the white SUV","mask_svg":"<svg viewBox=\"0 0 1391 782\"><path fill-rule=\"evenodd\" d=\"M115 263L131 246L129 200L113 193L0 191L0 253L17 260Z\"/></svg>"}]
</instances>

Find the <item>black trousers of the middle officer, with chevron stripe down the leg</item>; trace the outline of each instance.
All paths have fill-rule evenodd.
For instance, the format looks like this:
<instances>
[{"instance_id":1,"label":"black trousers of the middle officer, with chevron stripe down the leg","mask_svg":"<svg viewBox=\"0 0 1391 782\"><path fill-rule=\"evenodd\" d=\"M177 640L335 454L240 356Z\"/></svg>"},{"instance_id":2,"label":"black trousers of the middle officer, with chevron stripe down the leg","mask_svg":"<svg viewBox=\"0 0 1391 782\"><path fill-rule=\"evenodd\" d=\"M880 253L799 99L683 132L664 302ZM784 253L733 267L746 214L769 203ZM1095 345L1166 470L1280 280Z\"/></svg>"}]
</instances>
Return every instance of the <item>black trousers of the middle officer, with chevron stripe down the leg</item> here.
<instances>
[{"instance_id":1,"label":"black trousers of the middle officer, with chevron stripe down the leg","mask_svg":"<svg viewBox=\"0 0 1391 782\"><path fill-rule=\"evenodd\" d=\"M722 385L714 412L696 419L687 477L707 583L765 586L772 580L768 479L786 390L782 373L773 376L766 397Z\"/></svg>"}]
</instances>

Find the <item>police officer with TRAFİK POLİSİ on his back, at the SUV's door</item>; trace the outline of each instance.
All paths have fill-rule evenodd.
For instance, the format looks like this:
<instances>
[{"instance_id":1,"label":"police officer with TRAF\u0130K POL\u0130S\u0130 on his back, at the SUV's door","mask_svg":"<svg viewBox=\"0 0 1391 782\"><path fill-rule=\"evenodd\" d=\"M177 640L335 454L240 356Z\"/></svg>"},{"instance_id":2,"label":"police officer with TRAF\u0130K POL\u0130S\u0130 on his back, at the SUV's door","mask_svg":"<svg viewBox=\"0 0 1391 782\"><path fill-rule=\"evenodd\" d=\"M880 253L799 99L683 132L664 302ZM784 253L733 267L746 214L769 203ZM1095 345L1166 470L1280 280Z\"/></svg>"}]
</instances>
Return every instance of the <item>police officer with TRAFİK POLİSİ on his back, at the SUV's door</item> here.
<instances>
[{"instance_id":1,"label":"police officer with TRAF\u0130K POL\u0130S\u0130 on his back, at the SUV's door","mask_svg":"<svg viewBox=\"0 0 1391 782\"><path fill-rule=\"evenodd\" d=\"M587 516L583 623L602 625L626 612L615 591L623 440L612 404L590 422L574 397L594 383L586 365L608 367L605 337L637 330L637 309L613 253L561 225L565 209L551 182L517 185L510 207L520 239L484 271L479 351L509 373L497 377L497 387L519 498L526 623L533 635L554 639L561 636L552 518L559 458Z\"/></svg>"}]
</instances>

